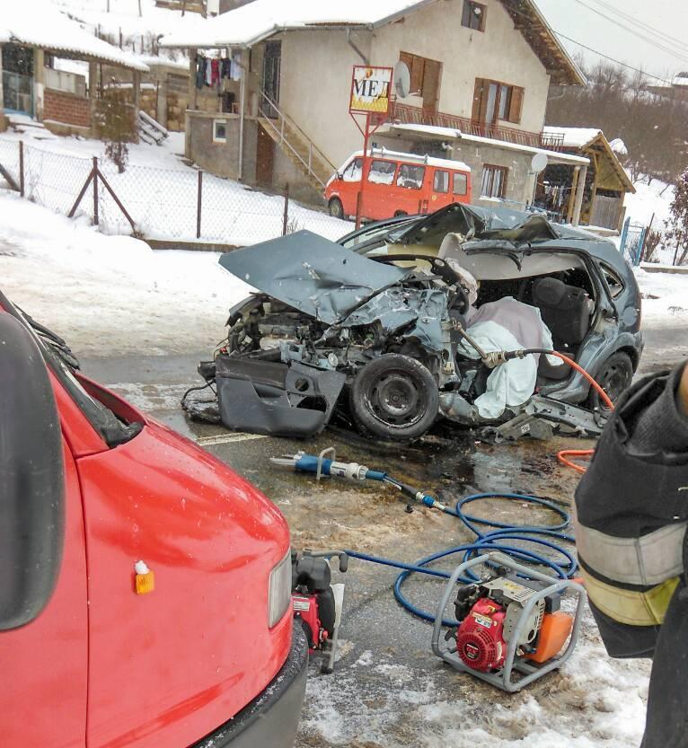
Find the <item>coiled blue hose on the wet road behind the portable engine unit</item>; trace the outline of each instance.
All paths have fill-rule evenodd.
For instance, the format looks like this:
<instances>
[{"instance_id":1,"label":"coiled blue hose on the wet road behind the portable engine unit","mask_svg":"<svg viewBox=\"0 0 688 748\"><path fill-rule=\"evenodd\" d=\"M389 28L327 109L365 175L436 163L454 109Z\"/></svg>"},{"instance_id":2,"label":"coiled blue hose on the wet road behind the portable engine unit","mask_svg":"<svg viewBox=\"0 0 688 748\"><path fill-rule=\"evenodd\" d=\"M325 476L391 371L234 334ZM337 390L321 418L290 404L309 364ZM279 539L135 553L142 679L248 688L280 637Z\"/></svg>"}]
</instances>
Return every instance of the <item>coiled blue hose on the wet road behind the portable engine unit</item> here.
<instances>
[{"instance_id":1,"label":"coiled blue hose on the wet road behind the portable engine unit","mask_svg":"<svg viewBox=\"0 0 688 748\"><path fill-rule=\"evenodd\" d=\"M507 500L520 501L522 503L533 504L536 506L542 506L546 509L551 509L560 516L561 522L559 524L552 524L548 526L543 525L519 525L519 524L507 524L497 522L495 520L485 519L484 517L476 517L468 515L464 511L464 506L470 504L473 501L478 501L481 498L504 498ZM401 574L397 576L394 582L394 597L397 602L401 604L412 615L418 616L420 619L435 621L435 616L432 613L422 610L417 605L414 605L403 593L401 587L404 582L412 574L427 574L429 576L436 576L444 579L448 579L450 574L445 571L439 571L434 568L428 568L428 564L438 559L445 559L448 556L454 556L457 553L463 553L462 559L458 563L463 563L481 553L486 553L490 550L500 550L503 553L507 553L518 561L525 561L526 563L532 563L537 566L544 566L551 568L554 576L560 579L569 579L575 575L576 569L578 568L578 562L573 555L561 546L562 542L573 542L573 537L564 533L563 531L569 526L570 515L564 511L560 506L557 506L549 499L530 496L528 494L515 494L515 493L483 493L483 494L472 494L471 496L463 497L456 503L454 509L445 507L443 510L445 514L452 515L457 519L461 520L463 524L475 533L475 540L470 543L463 543L462 545L454 546L446 550L437 551L426 556L424 559L419 559L414 564L404 564L401 561L394 561L392 559L384 559L380 556L370 556L367 553L359 553L357 550L347 550L348 555L353 559L360 559L363 561L369 561L375 564L382 564L393 568L401 568ZM482 532L478 525L485 527L491 527L492 530ZM509 545L505 541L521 541L532 543L543 548L553 550L560 554L564 559L564 563L556 563L555 561L542 555L542 553L535 552L534 550L526 550L519 548L515 545ZM458 563L456 566L458 566ZM477 577L469 573L461 580L465 584L470 584L477 581ZM457 620L446 619L442 621L445 626L458 626Z\"/></svg>"}]
</instances>

